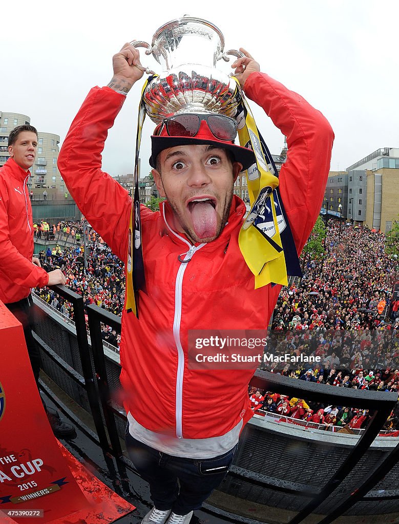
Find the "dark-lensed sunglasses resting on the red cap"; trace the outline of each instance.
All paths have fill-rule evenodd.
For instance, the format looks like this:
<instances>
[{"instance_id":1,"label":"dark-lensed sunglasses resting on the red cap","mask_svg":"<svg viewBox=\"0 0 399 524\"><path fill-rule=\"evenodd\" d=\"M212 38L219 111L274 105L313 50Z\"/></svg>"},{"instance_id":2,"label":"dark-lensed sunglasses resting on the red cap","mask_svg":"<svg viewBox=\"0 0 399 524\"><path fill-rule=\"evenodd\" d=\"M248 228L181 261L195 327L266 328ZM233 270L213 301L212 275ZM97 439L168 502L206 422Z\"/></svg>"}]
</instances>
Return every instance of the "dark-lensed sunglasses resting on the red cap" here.
<instances>
[{"instance_id":1,"label":"dark-lensed sunglasses resting on the red cap","mask_svg":"<svg viewBox=\"0 0 399 524\"><path fill-rule=\"evenodd\" d=\"M185 113L169 116L163 120L158 136L166 127L169 136L193 138L197 136L202 121L206 121L212 135L218 140L233 141L237 136L237 122L234 118L216 114Z\"/></svg>"}]
</instances>

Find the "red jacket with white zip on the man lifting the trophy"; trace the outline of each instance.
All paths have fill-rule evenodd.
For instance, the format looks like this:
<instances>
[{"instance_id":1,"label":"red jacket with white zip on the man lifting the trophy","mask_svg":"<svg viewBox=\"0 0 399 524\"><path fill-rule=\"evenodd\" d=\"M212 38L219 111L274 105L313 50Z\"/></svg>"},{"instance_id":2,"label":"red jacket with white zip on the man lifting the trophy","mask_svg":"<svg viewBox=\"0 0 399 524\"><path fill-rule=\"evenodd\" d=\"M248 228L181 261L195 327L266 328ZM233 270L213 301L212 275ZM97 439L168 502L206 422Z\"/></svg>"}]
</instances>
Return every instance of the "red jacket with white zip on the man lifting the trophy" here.
<instances>
[{"instance_id":1,"label":"red jacket with white zip on the man lifting the trophy","mask_svg":"<svg viewBox=\"0 0 399 524\"><path fill-rule=\"evenodd\" d=\"M279 176L281 195L298 252L321 209L333 133L325 117L301 96L264 73L252 73L245 93L287 137ZM101 170L101 152L125 97L93 88L72 122L58 166L79 209L126 264L132 201ZM178 438L221 436L251 418L248 383L253 369L188 368L188 330L265 329L281 286L254 289L239 249L246 213L234 196L228 224L213 242L192 246L171 227L167 202L160 212L142 206L147 294L140 292L137 320L122 315L121 383L124 405L150 431ZM190 261L180 263L182 254ZM148 391L161 399L147 408ZM219 399L214 402L215 397Z\"/></svg>"}]
</instances>

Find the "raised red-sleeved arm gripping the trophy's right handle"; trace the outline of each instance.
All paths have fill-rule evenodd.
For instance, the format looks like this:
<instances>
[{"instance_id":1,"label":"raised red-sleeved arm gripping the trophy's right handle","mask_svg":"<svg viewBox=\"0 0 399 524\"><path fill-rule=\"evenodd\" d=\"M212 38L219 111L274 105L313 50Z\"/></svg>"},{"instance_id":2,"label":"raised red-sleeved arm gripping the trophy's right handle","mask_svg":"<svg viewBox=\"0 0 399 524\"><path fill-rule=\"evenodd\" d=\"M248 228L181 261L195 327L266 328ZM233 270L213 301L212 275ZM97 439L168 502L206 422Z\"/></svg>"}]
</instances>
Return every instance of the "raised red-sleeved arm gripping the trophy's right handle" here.
<instances>
[{"instance_id":1,"label":"raised red-sleeved arm gripping the trophy's right handle","mask_svg":"<svg viewBox=\"0 0 399 524\"><path fill-rule=\"evenodd\" d=\"M232 67L238 71L246 96L260 105L287 137L287 161L279 174L279 187L300 253L320 213L334 134L319 111L280 82L257 72L258 64L241 51L246 57Z\"/></svg>"}]
</instances>

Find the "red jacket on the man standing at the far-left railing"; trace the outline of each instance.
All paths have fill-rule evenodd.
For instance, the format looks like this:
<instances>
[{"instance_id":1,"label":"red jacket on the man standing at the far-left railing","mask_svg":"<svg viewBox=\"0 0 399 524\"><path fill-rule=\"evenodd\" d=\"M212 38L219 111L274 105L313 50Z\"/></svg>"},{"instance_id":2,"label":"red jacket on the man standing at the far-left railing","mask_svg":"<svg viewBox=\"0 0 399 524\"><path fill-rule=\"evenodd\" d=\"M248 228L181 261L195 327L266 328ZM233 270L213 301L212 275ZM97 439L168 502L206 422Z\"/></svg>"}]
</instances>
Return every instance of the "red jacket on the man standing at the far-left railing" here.
<instances>
[{"instance_id":1,"label":"red jacket on the man standing at the far-left railing","mask_svg":"<svg viewBox=\"0 0 399 524\"><path fill-rule=\"evenodd\" d=\"M4 303L26 298L31 288L48 283L47 272L32 263L29 176L13 158L0 168L0 300Z\"/></svg>"}]
</instances>

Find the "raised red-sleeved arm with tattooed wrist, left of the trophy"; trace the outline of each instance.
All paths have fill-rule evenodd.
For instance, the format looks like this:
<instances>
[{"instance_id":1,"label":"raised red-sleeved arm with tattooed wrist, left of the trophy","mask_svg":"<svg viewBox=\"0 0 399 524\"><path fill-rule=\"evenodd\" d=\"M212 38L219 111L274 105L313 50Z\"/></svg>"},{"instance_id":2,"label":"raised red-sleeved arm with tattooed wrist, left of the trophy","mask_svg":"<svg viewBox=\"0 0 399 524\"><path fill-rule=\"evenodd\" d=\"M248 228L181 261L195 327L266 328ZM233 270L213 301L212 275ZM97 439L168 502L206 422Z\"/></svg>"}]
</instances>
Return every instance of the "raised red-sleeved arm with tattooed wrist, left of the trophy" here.
<instances>
[{"instance_id":1,"label":"raised red-sleeved arm with tattooed wrist, left of the trophy","mask_svg":"<svg viewBox=\"0 0 399 524\"><path fill-rule=\"evenodd\" d=\"M62 178L78 208L124 261L132 200L120 184L102 171L101 153L126 94L143 76L136 64L139 64L138 51L125 44L113 57L112 80L106 87L90 91L58 157Z\"/></svg>"}]
</instances>

